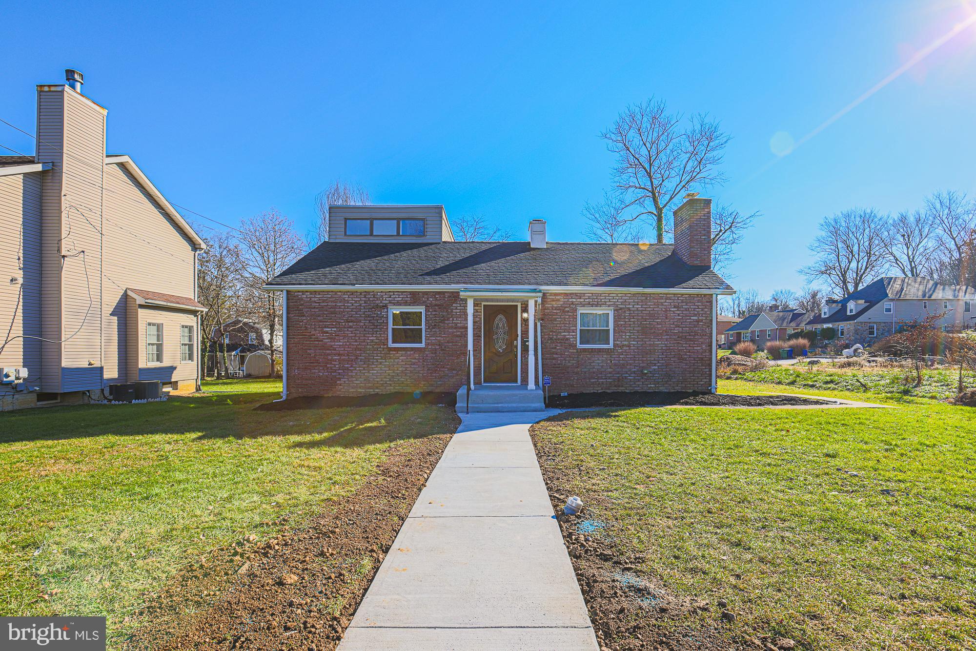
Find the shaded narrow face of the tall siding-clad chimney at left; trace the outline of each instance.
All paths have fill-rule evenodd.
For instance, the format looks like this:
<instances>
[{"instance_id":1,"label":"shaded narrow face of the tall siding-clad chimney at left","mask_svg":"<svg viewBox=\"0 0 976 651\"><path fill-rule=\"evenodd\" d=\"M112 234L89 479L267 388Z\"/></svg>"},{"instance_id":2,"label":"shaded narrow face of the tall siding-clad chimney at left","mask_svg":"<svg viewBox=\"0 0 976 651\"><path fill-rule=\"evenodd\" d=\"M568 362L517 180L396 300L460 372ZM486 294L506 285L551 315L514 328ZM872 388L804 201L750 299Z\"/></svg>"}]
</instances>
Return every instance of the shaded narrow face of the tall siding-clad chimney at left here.
<instances>
[{"instance_id":1,"label":"shaded narrow face of the tall siding-clad chimney at left","mask_svg":"<svg viewBox=\"0 0 976 651\"><path fill-rule=\"evenodd\" d=\"M46 90L50 88L51 90ZM37 160L51 163L41 173L41 343L40 386L61 390L61 153L64 137L64 90L37 89Z\"/></svg>"}]
</instances>

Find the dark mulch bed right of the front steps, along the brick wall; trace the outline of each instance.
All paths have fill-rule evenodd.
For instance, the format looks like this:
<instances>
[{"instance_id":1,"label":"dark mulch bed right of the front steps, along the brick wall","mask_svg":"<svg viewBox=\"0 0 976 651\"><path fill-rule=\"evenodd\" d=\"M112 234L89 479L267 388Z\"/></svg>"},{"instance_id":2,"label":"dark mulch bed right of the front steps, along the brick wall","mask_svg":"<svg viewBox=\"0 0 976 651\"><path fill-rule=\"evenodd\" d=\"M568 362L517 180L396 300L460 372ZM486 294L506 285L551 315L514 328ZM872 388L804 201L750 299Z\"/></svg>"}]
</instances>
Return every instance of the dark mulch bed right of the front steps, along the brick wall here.
<instances>
[{"instance_id":1,"label":"dark mulch bed right of the front steps, along the brick wall","mask_svg":"<svg viewBox=\"0 0 976 651\"><path fill-rule=\"evenodd\" d=\"M588 407L775 407L829 404L834 403L792 395L732 395L693 391L599 391L549 396L547 406L555 409L584 409Z\"/></svg>"}]
</instances>

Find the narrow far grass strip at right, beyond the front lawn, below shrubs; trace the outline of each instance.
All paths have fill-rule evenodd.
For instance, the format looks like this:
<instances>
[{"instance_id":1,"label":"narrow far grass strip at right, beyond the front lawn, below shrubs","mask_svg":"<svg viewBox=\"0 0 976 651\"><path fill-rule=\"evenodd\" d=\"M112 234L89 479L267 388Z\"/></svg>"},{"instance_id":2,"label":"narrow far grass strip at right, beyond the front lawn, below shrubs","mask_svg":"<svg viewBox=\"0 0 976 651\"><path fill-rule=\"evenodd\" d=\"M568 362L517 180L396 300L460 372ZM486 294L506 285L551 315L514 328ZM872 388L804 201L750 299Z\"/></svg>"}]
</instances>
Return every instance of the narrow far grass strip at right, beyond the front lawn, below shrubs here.
<instances>
[{"instance_id":1,"label":"narrow far grass strip at right, beyond the front lawn, below shrubs","mask_svg":"<svg viewBox=\"0 0 976 651\"><path fill-rule=\"evenodd\" d=\"M735 377L737 380L762 384L915 395L933 399L954 397L958 393L959 383L959 372L952 369L926 370L922 375L922 384L915 387L914 370L869 369L838 372L810 369L802 362L794 366L770 366ZM976 387L976 373L965 372L963 385Z\"/></svg>"}]
</instances>

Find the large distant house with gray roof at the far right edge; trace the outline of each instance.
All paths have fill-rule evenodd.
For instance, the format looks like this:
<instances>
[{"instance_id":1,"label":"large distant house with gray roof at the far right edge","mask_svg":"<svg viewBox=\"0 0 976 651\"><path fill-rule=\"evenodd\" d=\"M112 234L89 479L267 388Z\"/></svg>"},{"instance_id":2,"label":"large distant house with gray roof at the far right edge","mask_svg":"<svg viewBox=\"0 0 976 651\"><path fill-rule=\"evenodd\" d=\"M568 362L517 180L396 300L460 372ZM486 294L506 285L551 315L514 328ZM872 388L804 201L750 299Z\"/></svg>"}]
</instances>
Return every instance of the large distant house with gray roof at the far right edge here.
<instances>
[{"instance_id":1,"label":"large distant house with gray roof at the far right edge","mask_svg":"<svg viewBox=\"0 0 976 651\"><path fill-rule=\"evenodd\" d=\"M837 341L870 346L892 334L900 322L943 314L937 325L945 331L974 325L976 288L940 285L920 276L885 276L842 299L827 299L823 311L808 328L834 328Z\"/></svg>"}]
</instances>

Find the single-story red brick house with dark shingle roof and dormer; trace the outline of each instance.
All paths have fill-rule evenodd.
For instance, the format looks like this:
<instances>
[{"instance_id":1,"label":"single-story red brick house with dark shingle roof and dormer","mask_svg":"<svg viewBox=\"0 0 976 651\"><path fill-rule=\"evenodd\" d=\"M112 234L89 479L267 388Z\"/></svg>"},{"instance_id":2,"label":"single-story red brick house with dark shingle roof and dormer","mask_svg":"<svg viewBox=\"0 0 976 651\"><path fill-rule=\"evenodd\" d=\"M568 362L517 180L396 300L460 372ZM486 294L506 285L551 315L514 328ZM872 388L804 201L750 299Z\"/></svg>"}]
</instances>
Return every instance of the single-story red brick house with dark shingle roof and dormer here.
<instances>
[{"instance_id":1,"label":"single-story red brick house with dark shingle roof and dormer","mask_svg":"<svg viewBox=\"0 0 976 651\"><path fill-rule=\"evenodd\" d=\"M331 206L330 239L275 277L284 397L714 390L711 199L675 243L455 241L442 206Z\"/></svg>"}]
</instances>

